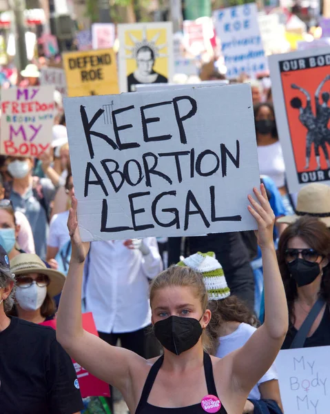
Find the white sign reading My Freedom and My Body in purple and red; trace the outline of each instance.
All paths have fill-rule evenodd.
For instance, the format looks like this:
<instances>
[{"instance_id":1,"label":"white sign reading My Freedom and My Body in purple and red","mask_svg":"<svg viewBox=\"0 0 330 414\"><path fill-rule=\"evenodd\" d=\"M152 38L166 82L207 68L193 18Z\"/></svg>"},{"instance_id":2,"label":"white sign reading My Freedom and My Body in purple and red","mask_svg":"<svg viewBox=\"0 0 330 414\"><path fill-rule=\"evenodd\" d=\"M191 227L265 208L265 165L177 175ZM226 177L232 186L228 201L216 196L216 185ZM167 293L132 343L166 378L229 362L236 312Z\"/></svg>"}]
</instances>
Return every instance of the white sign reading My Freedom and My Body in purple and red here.
<instances>
[{"instance_id":1,"label":"white sign reading My Freedom and My Body in purple and red","mask_svg":"<svg viewBox=\"0 0 330 414\"><path fill-rule=\"evenodd\" d=\"M0 153L38 157L50 147L54 86L1 90Z\"/></svg>"}]
</instances>

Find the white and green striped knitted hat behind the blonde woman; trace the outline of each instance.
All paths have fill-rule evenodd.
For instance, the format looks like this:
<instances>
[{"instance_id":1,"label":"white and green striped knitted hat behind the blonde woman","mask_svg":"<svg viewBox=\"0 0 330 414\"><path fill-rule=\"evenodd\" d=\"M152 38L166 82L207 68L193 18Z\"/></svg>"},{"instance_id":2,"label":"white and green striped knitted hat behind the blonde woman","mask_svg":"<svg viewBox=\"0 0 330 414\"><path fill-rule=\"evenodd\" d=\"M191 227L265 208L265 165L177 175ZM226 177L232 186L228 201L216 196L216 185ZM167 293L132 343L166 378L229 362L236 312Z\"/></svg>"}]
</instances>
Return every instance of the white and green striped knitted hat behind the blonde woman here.
<instances>
[{"instance_id":1,"label":"white and green striped knitted hat behind the blonde woman","mask_svg":"<svg viewBox=\"0 0 330 414\"><path fill-rule=\"evenodd\" d=\"M223 268L213 252L198 252L178 262L177 266L187 266L203 273L209 300L225 299L230 295Z\"/></svg>"}]
</instances>

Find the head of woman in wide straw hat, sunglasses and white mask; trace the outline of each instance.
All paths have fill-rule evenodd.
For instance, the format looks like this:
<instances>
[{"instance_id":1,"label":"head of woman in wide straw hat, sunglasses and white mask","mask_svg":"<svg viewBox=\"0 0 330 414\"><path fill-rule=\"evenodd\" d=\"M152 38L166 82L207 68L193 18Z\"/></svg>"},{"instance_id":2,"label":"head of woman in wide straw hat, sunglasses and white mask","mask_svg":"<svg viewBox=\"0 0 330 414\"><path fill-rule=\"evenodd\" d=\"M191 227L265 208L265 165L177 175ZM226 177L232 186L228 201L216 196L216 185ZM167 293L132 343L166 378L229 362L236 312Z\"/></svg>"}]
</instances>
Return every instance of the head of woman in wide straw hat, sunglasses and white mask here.
<instances>
[{"instance_id":1,"label":"head of woman in wide straw hat, sunglasses and white mask","mask_svg":"<svg viewBox=\"0 0 330 414\"><path fill-rule=\"evenodd\" d=\"M11 261L16 276L15 304L10 315L41 324L54 318L54 297L61 293L65 276L47 268L37 255L22 253Z\"/></svg>"}]
</instances>

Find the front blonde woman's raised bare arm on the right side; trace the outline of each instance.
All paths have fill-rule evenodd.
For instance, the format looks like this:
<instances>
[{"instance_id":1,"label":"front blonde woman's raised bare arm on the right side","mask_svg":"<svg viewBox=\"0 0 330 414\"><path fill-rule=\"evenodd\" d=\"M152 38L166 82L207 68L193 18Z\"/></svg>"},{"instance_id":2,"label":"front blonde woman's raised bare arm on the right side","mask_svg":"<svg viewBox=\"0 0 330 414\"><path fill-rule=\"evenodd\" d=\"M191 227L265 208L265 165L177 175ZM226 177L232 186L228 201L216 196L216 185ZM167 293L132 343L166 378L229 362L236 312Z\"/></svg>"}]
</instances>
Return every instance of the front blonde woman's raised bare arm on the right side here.
<instances>
[{"instance_id":1,"label":"front blonde woman's raised bare arm on the right side","mask_svg":"<svg viewBox=\"0 0 330 414\"><path fill-rule=\"evenodd\" d=\"M258 202L249 196L251 206L248 208L258 223L258 244L264 269L265 322L242 348L231 353L232 383L247 393L274 362L285 339L289 319L273 242L274 213L263 184L261 194L256 188L254 194Z\"/></svg>"}]
</instances>

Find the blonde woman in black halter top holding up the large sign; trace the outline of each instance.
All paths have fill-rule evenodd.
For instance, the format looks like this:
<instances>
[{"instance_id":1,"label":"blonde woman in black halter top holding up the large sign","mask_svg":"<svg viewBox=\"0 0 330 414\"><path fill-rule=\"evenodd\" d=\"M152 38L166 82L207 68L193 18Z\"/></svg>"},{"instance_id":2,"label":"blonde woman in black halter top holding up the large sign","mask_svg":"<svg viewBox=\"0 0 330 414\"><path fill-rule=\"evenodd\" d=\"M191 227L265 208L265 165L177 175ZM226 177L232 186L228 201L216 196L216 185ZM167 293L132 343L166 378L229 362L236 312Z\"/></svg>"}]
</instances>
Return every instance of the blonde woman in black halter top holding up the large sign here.
<instances>
[{"instance_id":1,"label":"blonde woman in black halter top holding up the large sign","mask_svg":"<svg viewBox=\"0 0 330 414\"><path fill-rule=\"evenodd\" d=\"M90 373L118 388L131 413L241 414L247 395L274 362L287 333L287 305L273 243L274 213L265 187L249 195L265 268L265 323L238 350L219 359L204 352L211 319L203 276L171 267L152 282L150 304L162 357L145 360L83 330L81 287L89 249L81 242L72 197L68 228L72 257L57 317L57 337Z\"/></svg>"}]
</instances>

